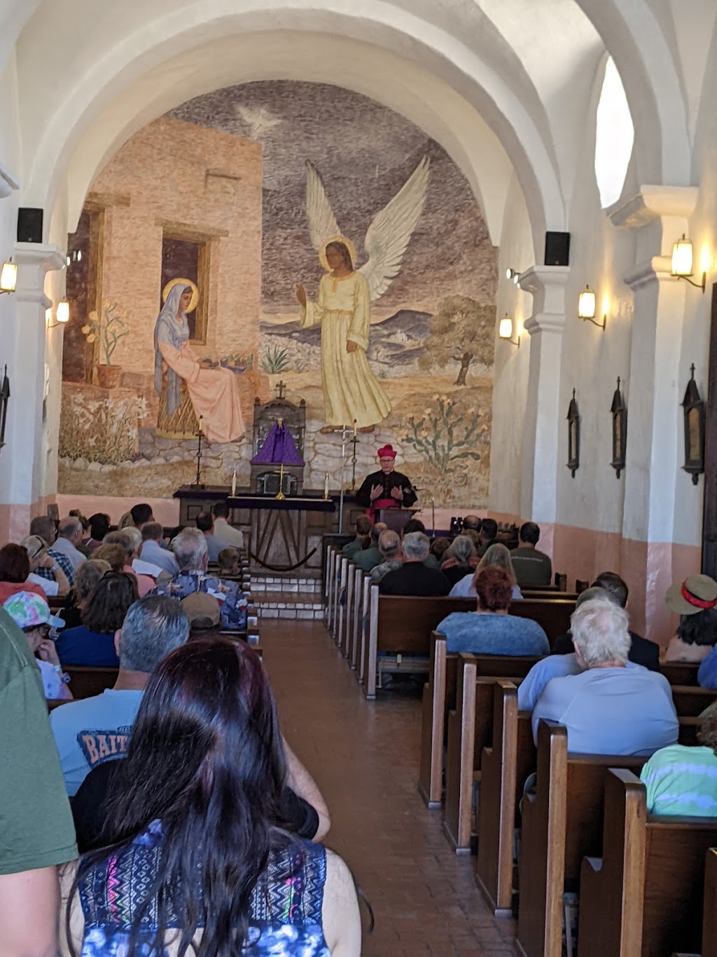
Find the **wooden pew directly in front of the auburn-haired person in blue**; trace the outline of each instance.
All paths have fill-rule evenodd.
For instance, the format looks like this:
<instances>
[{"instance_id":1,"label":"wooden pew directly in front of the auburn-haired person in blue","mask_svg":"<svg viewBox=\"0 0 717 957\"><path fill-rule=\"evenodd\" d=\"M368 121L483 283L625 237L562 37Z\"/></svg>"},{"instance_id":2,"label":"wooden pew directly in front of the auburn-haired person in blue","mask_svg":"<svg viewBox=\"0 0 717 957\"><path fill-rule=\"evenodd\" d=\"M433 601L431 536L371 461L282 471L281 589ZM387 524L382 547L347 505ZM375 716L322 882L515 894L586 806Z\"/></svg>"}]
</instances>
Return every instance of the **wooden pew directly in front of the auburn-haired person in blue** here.
<instances>
[{"instance_id":1,"label":"wooden pew directly in front of the auburn-haired person in blue","mask_svg":"<svg viewBox=\"0 0 717 957\"><path fill-rule=\"evenodd\" d=\"M472 612L473 598L415 598L380 595L379 586L372 585L369 597L366 649L363 656L364 693L376 697L378 653L415 656L411 670L428 670L430 633L450 612ZM570 615L575 602L563 598L516 601L511 614L537 621L551 640L564 634L570 627Z\"/></svg>"}]
</instances>

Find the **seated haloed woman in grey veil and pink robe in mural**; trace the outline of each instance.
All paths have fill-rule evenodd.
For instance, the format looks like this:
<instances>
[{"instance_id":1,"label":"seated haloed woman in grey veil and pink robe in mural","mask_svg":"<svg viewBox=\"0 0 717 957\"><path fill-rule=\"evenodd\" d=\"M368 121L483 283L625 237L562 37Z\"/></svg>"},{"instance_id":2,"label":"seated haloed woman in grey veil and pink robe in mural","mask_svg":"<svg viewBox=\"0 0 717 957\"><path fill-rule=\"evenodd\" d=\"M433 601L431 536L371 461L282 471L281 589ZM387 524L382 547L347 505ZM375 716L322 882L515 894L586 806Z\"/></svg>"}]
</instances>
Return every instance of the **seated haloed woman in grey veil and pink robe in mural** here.
<instances>
[{"instance_id":1,"label":"seated haloed woman in grey veil and pink robe in mural","mask_svg":"<svg viewBox=\"0 0 717 957\"><path fill-rule=\"evenodd\" d=\"M163 297L154 327L158 434L191 437L197 434L197 419L202 415L208 441L237 441L244 435L244 419L236 376L228 368L212 368L189 345L186 314L196 308L199 290L187 279L172 279L164 287Z\"/></svg>"}]
</instances>

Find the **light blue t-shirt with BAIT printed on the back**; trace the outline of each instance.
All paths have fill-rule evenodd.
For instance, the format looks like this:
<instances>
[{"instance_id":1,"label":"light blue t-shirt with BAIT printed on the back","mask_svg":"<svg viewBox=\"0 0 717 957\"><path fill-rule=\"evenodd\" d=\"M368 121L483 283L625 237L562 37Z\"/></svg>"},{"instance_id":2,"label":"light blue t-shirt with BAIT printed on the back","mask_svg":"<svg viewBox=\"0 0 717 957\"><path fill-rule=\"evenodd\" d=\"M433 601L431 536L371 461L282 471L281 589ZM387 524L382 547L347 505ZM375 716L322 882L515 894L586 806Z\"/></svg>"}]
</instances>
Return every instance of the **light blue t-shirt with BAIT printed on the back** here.
<instances>
[{"instance_id":1,"label":"light blue t-shirt with BAIT printed on the back","mask_svg":"<svg viewBox=\"0 0 717 957\"><path fill-rule=\"evenodd\" d=\"M109 689L50 712L65 787L73 797L93 768L125 754L142 691Z\"/></svg>"}]
</instances>

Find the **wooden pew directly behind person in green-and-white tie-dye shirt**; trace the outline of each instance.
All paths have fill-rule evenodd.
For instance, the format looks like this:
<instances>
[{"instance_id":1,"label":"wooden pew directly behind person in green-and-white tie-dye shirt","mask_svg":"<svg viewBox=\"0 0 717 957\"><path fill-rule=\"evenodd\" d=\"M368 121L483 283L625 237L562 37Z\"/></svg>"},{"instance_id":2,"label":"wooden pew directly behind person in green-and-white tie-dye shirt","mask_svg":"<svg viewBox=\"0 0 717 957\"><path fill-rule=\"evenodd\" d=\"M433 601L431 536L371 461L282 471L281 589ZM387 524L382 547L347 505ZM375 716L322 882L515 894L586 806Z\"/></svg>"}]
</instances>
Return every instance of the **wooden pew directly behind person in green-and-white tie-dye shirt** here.
<instances>
[{"instance_id":1,"label":"wooden pew directly behind person in green-and-white tie-dye shirt","mask_svg":"<svg viewBox=\"0 0 717 957\"><path fill-rule=\"evenodd\" d=\"M648 816L635 774L610 768L604 778L602 857L580 870L578 957L696 952L717 818Z\"/></svg>"}]
</instances>

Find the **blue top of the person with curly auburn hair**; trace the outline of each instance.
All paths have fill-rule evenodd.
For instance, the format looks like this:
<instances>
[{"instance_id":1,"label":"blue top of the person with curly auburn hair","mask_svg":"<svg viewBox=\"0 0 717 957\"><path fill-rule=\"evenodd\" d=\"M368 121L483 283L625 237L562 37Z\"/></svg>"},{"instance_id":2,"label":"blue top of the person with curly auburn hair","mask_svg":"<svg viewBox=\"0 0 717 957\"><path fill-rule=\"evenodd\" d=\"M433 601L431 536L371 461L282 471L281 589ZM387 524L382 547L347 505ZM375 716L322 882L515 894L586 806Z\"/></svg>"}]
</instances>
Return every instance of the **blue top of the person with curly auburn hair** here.
<instances>
[{"instance_id":1,"label":"blue top of the person with curly auburn hair","mask_svg":"<svg viewBox=\"0 0 717 957\"><path fill-rule=\"evenodd\" d=\"M494 612L451 612L436 628L449 654L547 655L548 638L532 618Z\"/></svg>"}]
</instances>

